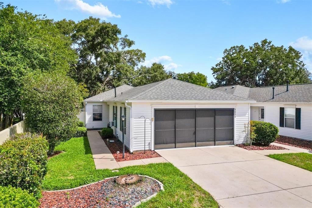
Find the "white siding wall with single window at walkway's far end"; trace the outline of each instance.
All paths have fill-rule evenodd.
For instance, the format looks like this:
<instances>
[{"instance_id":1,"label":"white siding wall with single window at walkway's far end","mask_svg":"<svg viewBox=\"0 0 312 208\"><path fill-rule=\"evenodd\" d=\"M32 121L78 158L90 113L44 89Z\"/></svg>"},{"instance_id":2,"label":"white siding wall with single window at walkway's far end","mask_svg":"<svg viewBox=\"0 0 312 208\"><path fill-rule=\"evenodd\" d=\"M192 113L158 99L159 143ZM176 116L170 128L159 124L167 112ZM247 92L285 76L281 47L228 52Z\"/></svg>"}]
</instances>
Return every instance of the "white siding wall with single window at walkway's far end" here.
<instances>
[{"instance_id":1,"label":"white siding wall with single window at walkway's far end","mask_svg":"<svg viewBox=\"0 0 312 208\"><path fill-rule=\"evenodd\" d=\"M102 121L93 121L93 105L102 105ZM109 122L109 106L106 102L87 102L85 106L85 118L87 129L100 129L107 126Z\"/></svg>"}]
</instances>

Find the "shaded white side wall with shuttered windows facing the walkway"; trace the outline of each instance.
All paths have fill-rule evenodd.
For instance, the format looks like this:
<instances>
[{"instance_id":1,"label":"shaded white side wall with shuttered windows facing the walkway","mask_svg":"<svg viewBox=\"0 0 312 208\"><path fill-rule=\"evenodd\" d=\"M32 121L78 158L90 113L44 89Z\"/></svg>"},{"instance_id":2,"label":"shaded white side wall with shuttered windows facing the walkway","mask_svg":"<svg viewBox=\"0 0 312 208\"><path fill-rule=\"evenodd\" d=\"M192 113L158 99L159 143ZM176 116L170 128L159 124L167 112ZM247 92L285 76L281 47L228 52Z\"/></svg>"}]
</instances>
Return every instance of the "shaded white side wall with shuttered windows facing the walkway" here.
<instances>
[{"instance_id":1,"label":"shaded white side wall with shuttered windows facing the walkway","mask_svg":"<svg viewBox=\"0 0 312 208\"><path fill-rule=\"evenodd\" d=\"M122 131L120 131L120 116L124 114L124 103L109 103L109 121L113 121L113 105L117 105L117 127L113 127L114 134L120 141L122 141ZM122 107L122 114L120 115L120 106ZM130 108L126 109L126 134L124 135L124 145L130 150ZM105 126L106 127L106 126Z\"/></svg>"}]
</instances>

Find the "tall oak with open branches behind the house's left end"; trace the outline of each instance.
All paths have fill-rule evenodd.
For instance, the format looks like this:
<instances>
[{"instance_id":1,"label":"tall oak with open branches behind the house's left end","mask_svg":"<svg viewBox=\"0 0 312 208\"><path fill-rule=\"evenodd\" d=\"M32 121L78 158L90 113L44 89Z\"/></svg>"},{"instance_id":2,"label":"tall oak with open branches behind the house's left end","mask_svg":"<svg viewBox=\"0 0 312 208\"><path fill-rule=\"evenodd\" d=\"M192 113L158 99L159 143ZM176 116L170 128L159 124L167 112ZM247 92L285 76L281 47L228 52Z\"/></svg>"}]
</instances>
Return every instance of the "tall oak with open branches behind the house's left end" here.
<instances>
[{"instance_id":1,"label":"tall oak with open branches behind the house's left end","mask_svg":"<svg viewBox=\"0 0 312 208\"><path fill-rule=\"evenodd\" d=\"M72 22L62 20L57 24L63 34L71 34ZM130 49L133 40L120 35L117 25L100 22L99 18L89 17L74 27L71 37L79 60L71 76L84 82L91 95L131 82L135 67L145 59L144 52Z\"/></svg>"}]
</instances>

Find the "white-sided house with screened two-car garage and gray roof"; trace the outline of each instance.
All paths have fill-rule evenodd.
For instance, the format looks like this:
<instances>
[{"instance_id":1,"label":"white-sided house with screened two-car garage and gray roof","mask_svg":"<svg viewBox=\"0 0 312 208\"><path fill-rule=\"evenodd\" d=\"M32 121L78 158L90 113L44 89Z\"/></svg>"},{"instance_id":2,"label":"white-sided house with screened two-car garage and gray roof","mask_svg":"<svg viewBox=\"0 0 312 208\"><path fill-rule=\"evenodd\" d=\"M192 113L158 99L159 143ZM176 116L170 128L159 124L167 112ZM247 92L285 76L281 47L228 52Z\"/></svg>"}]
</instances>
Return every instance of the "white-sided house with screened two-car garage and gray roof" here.
<instances>
[{"instance_id":1,"label":"white-sided house with screened two-car garage and gray roof","mask_svg":"<svg viewBox=\"0 0 312 208\"><path fill-rule=\"evenodd\" d=\"M115 93L116 92L116 93ZM246 97L175 79L131 87L123 85L84 100L85 126L100 129L114 121L114 134L132 151L246 142L250 106ZM146 140L144 143L144 118Z\"/></svg>"}]
</instances>

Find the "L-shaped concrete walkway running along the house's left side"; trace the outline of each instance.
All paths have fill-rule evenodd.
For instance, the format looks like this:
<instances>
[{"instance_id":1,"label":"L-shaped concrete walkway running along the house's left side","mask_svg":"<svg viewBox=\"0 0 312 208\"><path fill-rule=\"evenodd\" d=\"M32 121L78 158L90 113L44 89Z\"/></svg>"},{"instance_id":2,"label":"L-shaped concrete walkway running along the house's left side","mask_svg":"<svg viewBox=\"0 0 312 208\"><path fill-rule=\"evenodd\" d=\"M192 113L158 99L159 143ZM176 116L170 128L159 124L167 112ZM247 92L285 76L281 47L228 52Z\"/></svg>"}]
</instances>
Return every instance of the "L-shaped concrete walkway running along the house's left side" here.
<instances>
[{"instance_id":1,"label":"L-shaped concrete walkway running along the house's left side","mask_svg":"<svg viewBox=\"0 0 312 208\"><path fill-rule=\"evenodd\" d=\"M116 169L126 166L168 162L163 157L117 162L98 131L87 131L87 136L95 164L95 169Z\"/></svg>"}]
</instances>

